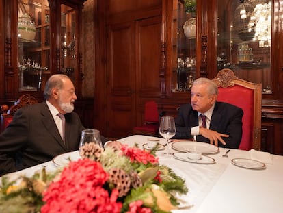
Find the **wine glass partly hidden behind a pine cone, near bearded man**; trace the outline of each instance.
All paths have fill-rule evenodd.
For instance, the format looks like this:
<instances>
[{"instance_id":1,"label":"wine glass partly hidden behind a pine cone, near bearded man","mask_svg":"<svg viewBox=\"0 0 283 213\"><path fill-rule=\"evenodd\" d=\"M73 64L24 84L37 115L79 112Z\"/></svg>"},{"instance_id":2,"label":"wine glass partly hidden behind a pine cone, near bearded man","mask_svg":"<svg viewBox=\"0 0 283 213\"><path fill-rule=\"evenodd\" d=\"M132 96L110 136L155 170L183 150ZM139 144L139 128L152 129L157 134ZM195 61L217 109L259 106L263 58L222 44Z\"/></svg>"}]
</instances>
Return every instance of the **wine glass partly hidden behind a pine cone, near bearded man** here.
<instances>
[{"instance_id":1,"label":"wine glass partly hidden behind a pine cone, near bearded man","mask_svg":"<svg viewBox=\"0 0 283 213\"><path fill-rule=\"evenodd\" d=\"M83 155L83 146L87 143L94 142L94 144L102 146L100 139L100 132L97 129L85 129L81 132L81 140L79 142L79 155Z\"/></svg>"}]
</instances>

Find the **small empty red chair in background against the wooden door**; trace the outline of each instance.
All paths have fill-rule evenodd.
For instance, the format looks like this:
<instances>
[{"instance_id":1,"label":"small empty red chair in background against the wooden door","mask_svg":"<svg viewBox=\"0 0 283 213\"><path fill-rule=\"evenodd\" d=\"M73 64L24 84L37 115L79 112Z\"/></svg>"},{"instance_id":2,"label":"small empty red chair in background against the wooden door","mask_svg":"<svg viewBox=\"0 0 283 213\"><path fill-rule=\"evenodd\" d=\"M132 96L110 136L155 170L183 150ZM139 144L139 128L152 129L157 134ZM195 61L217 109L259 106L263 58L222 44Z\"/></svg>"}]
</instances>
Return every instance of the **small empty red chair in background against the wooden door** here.
<instances>
[{"instance_id":1,"label":"small empty red chair in background against the wooden door","mask_svg":"<svg viewBox=\"0 0 283 213\"><path fill-rule=\"evenodd\" d=\"M159 110L155 101L148 101L144 106L144 125L133 128L133 134L157 136L159 131Z\"/></svg>"}]
</instances>

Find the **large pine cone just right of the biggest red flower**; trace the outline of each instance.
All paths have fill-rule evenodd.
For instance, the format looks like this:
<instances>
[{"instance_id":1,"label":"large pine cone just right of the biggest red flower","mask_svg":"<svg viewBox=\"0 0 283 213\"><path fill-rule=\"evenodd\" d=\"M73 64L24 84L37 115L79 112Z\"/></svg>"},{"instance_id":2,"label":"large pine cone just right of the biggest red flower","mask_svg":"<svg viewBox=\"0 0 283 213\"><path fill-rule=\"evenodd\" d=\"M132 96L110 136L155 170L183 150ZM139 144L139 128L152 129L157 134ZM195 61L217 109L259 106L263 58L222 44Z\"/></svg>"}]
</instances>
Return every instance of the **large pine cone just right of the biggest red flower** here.
<instances>
[{"instance_id":1,"label":"large pine cone just right of the biggest red flower","mask_svg":"<svg viewBox=\"0 0 283 213\"><path fill-rule=\"evenodd\" d=\"M109 171L109 182L114 184L115 188L118 190L118 197L126 195L130 190L131 178L124 170L121 168L111 168Z\"/></svg>"}]
</instances>

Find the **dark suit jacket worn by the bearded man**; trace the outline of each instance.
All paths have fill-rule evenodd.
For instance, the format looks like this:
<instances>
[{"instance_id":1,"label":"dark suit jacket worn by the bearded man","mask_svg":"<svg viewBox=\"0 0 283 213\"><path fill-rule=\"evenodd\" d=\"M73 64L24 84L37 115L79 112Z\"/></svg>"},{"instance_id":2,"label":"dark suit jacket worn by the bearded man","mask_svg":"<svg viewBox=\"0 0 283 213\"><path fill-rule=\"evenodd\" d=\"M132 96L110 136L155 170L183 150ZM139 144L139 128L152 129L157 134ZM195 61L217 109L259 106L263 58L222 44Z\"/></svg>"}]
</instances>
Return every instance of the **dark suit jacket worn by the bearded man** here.
<instances>
[{"instance_id":1,"label":"dark suit jacket worn by the bearded man","mask_svg":"<svg viewBox=\"0 0 283 213\"><path fill-rule=\"evenodd\" d=\"M0 175L79 149L81 131L85 127L75 112L65 114L65 120L64 143L45 101L19 109L0 135ZM104 144L104 137L102 142Z\"/></svg>"}]
</instances>

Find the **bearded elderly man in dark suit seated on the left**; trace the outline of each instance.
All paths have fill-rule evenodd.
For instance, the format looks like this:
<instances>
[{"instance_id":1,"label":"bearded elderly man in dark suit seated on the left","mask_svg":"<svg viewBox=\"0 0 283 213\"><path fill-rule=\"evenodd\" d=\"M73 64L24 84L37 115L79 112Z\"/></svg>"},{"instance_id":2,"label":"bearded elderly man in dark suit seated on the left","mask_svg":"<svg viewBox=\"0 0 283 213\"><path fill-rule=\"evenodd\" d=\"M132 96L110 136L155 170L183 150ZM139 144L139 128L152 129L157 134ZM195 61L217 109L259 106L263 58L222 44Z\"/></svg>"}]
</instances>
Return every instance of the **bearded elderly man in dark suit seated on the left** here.
<instances>
[{"instance_id":1,"label":"bearded elderly man in dark suit seated on the left","mask_svg":"<svg viewBox=\"0 0 283 213\"><path fill-rule=\"evenodd\" d=\"M85 127L73 112L76 99L70 78L52 75L44 88L44 101L19 109L0 135L0 175L47 162L79 148ZM101 140L103 145L107 142L103 136Z\"/></svg>"}]
</instances>

